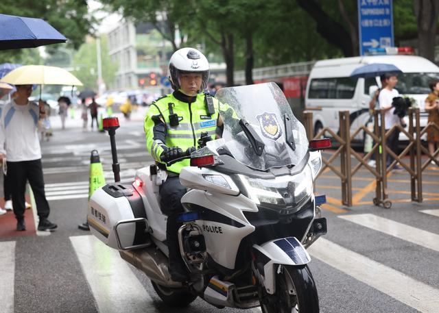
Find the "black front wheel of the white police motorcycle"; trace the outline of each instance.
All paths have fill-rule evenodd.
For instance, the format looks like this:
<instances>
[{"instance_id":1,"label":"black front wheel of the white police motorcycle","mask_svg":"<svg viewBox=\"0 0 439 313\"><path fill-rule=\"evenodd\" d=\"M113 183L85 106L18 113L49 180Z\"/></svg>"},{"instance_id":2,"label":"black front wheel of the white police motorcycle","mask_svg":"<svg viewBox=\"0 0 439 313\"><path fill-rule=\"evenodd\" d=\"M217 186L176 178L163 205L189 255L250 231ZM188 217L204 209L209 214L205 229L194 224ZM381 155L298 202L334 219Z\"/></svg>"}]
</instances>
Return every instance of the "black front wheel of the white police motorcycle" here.
<instances>
[{"instance_id":1,"label":"black front wheel of the white police motorcycle","mask_svg":"<svg viewBox=\"0 0 439 313\"><path fill-rule=\"evenodd\" d=\"M280 265L276 268L276 292L261 288L263 313L318 313L318 295L308 266Z\"/></svg>"}]
</instances>

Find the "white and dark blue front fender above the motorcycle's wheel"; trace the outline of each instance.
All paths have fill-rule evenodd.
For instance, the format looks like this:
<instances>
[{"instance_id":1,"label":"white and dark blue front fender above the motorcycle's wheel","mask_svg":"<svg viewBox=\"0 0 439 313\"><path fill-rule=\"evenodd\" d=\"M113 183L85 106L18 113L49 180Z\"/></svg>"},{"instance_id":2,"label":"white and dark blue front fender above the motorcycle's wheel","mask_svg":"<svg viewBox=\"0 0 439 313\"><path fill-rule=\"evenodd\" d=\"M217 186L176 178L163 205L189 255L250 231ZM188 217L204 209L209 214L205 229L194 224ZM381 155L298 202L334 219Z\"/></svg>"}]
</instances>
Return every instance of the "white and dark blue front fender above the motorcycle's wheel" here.
<instances>
[{"instance_id":1,"label":"white and dark blue front fender above the motorcycle's wheel","mask_svg":"<svg viewBox=\"0 0 439 313\"><path fill-rule=\"evenodd\" d=\"M260 246L253 245L253 251L263 285L270 295L276 291L276 264L305 265L311 261L307 250L295 237L271 240Z\"/></svg>"}]
</instances>

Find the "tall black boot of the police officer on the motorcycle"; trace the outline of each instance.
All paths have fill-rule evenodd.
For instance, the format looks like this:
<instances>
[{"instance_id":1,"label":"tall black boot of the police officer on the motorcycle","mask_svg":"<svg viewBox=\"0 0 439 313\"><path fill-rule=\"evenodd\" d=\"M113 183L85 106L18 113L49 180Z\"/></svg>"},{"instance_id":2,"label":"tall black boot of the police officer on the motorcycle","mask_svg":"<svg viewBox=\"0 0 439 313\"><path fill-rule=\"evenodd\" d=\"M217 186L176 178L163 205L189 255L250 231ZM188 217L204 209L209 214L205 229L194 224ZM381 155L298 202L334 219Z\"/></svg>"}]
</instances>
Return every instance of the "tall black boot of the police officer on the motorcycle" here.
<instances>
[{"instance_id":1,"label":"tall black boot of the police officer on the motorcycle","mask_svg":"<svg viewBox=\"0 0 439 313\"><path fill-rule=\"evenodd\" d=\"M177 230L179 225L177 223L177 216L178 214L169 215L166 223L167 247L169 249L169 274L173 281L188 281L189 272L181 258L180 249L178 247Z\"/></svg>"}]
</instances>

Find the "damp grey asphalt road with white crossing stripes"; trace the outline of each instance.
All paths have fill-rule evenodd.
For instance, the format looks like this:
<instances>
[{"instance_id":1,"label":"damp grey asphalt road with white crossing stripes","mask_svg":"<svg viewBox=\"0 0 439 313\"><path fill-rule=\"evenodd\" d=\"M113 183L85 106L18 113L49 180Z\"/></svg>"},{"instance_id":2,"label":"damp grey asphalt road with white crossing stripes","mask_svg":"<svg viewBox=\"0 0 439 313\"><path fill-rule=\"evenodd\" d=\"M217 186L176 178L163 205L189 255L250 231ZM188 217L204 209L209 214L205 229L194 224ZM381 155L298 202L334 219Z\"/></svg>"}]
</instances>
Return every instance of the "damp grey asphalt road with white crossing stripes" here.
<instances>
[{"instance_id":1,"label":"damp grey asphalt road with white crossing stripes","mask_svg":"<svg viewBox=\"0 0 439 313\"><path fill-rule=\"evenodd\" d=\"M152 160L145 152L141 115L121 118L117 131L122 178ZM92 149L100 153L107 181L112 173L108 135L83 132L75 123L69 121L62 131L54 120L54 136L43 142L50 218L58 230L49 236L10 231L0 237L0 312L242 312L219 310L200 299L184 310L168 308L145 275L78 229L86 218ZM439 312L438 197L411 203L403 193L410 184L395 182L390 197L396 201L385 210L371 204L368 176L358 177L363 180L354 180L354 192L361 194L352 208L340 203L340 179L328 172L318 181L318 192L331 202L322 210L329 232L309 250L321 312ZM434 194L437 176L427 181L425 189ZM0 217L2 229L15 227L5 221Z\"/></svg>"}]
</instances>

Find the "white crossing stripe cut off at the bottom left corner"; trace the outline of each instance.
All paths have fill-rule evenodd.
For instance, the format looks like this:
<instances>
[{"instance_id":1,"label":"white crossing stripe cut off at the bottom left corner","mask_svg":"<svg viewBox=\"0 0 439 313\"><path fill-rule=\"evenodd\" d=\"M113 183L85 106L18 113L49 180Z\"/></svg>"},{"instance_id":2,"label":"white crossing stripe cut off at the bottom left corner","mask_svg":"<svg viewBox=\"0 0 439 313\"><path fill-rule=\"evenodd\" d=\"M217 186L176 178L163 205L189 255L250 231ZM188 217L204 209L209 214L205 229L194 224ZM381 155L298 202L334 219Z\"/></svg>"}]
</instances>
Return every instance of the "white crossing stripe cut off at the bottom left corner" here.
<instances>
[{"instance_id":1,"label":"white crossing stripe cut off at the bottom left corner","mask_svg":"<svg viewBox=\"0 0 439 313\"><path fill-rule=\"evenodd\" d=\"M0 312L14 313L15 241L0 242L0 264Z\"/></svg>"}]
</instances>

